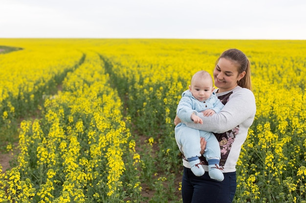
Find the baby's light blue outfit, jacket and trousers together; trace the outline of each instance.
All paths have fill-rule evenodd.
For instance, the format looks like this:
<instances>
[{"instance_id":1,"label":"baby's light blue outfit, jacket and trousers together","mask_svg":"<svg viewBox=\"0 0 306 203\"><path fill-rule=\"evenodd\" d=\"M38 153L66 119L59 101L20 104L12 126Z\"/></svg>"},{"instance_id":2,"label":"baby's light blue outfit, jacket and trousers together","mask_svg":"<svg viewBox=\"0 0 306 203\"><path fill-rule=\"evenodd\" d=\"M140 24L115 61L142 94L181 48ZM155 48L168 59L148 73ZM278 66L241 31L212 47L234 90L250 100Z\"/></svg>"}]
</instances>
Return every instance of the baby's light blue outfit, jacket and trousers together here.
<instances>
[{"instance_id":1,"label":"baby's light blue outfit, jacket and trousers together","mask_svg":"<svg viewBox=\"0 0 306 203\"><path fill-rule=\"evenodd\" d=\"M216 113L219 113L223 107L224 105L218 99L215 92L212 93L210 98L200 102L189 90L187 90L182 93L182 98L178 103L176 114L183 122L193 122L190 118L192 113L197 115L201 111L207 109L212 109ZM203 154L203 156L206 157L206 160L220 160L221 152L219 142L212 132L192 129L187 127L184 123L179 123L175 127L175 140L177 146L187 159L201 156L200 137L204 137L205 141L207 141L205 152Z\"/></svg>"}]
</instances>

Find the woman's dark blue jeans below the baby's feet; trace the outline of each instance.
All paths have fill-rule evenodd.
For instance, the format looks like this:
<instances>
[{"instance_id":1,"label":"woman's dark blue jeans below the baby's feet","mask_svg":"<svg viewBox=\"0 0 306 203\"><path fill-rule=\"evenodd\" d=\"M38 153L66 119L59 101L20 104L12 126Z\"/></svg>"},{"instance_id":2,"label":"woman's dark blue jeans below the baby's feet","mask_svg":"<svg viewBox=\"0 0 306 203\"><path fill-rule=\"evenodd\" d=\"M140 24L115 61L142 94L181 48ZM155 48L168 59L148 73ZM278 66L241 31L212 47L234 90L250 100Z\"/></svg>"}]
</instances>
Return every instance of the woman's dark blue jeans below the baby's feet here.
<instances>
[{"instance_id":1,"label":"woman's dark blue jeans below the baby's feet","mask_svg":"<svg viewBox=\"0 0 306 203\"><path fill-rule=\"evenodd\" d=\"M236 172L223 174L224 180L219 182L211 179L207 171L198 177L190 168L184 167L183 203L232 203L237 187Z\"/></svg>"}]
</instances>

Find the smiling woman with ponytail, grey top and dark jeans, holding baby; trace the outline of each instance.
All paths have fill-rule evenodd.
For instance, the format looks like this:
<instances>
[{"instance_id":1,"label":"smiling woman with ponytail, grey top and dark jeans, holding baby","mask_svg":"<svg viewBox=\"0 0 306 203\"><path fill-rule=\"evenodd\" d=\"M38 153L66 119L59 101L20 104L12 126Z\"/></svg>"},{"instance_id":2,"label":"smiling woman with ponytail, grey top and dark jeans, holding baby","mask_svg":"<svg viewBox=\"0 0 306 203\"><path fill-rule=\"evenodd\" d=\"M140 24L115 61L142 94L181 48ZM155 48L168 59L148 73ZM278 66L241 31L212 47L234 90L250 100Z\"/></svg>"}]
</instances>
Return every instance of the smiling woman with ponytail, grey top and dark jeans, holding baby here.
<instances>
[{"instance_id":1,"label":"smiling woman with ponytail, grey top and dark jeans, holding baby","mask_svg":"<svg viewBox=\"0 0 306 203\"><path fill-rule=\"evenodd\" d=\"M236 192L236 163L240 149L244 143L249 127L256 113L256 104L251 92L250 62L237 49L223 52L217 62L213 74L216 94L224 108L212 116L199 114L203 124L186 123L190 128L211 131L216 135L220 149L220 169L224 180L212 180L205 172L203 176L195 176L187 160L183 158L184 173L182 179L183 203L231 203ZM175 117L175 125L180 120ZM201 148L205 141L201 140ZM201 154L203 154L203 150ZM205 162L205 159L202 160ZM208 171L207 163L200 165Z\"/></svg>"}]
</instances>

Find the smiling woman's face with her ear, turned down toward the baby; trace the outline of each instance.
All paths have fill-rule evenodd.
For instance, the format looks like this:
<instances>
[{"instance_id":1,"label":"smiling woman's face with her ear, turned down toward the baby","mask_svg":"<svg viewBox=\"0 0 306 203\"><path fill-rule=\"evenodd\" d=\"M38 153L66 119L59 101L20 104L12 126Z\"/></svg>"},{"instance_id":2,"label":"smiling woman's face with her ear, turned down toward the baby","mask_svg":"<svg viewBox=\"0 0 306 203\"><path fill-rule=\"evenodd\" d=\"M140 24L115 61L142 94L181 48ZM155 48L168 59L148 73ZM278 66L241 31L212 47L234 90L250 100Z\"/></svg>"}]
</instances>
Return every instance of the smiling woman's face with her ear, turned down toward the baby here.
<instances>
[{"instance_id":1,"label":"smiling woman's face with her ear, turned down toward the baby","mask_svg":"<svg viewBox=\"0 0 306 203\"><path fill-rule=\"evenodd\" d=\"M245 72L238 73L238 64L226 58L220 58L214 69L215 86L218 92L226 92L238 86L238 81L244 77Z\"/></svg>"}]
</instances>

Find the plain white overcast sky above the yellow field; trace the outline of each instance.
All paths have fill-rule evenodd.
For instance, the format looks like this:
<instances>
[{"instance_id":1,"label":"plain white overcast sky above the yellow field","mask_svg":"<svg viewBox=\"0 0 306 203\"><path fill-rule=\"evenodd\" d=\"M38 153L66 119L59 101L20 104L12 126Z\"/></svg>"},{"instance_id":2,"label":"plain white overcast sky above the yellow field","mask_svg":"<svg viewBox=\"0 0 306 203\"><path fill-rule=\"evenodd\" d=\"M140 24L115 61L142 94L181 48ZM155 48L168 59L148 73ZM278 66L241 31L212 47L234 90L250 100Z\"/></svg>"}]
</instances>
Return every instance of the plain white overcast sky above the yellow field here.
<instances>
[{"instance_id":1,"label":"plain white overcast sky above the yellow field","mask_svg":"<svg viewBox=\"0 0 306 203\"><path fill-rule=\"evenodd\" d=\"M306 39L306 0L0 0L0 38Z\"/></svg>"}]
</instances>

